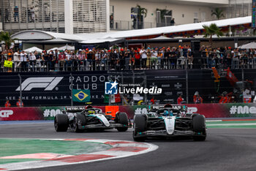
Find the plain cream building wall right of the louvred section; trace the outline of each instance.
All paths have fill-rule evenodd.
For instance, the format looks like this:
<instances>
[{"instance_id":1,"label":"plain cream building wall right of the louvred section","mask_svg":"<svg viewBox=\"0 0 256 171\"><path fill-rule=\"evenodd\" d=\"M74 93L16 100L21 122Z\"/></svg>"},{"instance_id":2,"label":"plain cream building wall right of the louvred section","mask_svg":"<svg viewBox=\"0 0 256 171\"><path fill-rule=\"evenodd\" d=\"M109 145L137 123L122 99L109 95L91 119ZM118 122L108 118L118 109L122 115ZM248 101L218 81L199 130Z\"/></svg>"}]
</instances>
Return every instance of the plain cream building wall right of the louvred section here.
<instances>
[{"instance_id":1,"label":"plain cream building wall right of the louvred section","mask_svg":"<svg viewBox=\"0 0 256 171\"><path fill-rule=\"evenodd\" d=\"M141 17L140 14L134 10L138 6L140 6L140 9L146 9L147 14L144 13ZM211 12L216 7L225 11L225 9L228 7L228 1L110 0L110 29L134 29L141 28L140 25L143 25L143 28L171 26L170 20L173 18L175 18L175 25L216 20L214 16L211 16ZM143 23L140 24L141 21Z\"/></svg>"}]
</instances>

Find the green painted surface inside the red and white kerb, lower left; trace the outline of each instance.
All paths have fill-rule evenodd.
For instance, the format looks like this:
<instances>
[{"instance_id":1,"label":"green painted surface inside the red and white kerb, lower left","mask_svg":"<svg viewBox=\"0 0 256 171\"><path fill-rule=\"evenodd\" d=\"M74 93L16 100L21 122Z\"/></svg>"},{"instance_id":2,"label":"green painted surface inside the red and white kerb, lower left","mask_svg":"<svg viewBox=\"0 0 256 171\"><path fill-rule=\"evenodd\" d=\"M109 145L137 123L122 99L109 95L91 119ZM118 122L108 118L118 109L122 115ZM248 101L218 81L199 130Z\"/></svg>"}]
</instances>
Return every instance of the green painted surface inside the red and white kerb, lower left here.
<instances>
[{"instance_id":1,"label":"green painted surface inside the red and white kerb, lower left","mask_svg":"<svg viewBox=\"0 0 256 171\"><path fill-rule=\"evenodd\" d=\"M62 140L29 140L29 139L0 139L0 157L16 156L29 153L59 153L79 155L112 148L98 142L62 141ZM0 159L0 164L37 159ZM42 160L42 159L39 159Z\"/></svg>"}]
</instances>

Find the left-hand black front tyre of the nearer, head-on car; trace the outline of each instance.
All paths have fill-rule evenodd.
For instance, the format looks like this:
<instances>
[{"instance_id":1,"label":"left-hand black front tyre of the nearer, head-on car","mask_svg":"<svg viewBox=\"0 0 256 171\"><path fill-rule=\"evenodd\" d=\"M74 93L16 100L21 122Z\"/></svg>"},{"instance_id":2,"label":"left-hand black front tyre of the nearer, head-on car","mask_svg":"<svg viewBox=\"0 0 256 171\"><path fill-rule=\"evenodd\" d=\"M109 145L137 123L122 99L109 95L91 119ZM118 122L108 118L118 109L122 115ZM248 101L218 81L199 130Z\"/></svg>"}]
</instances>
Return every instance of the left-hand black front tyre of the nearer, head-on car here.
<instances>
[{"instance_id":1,"label":"left-hand black front tyre of the nearer, head-on car","mask_svg":"<svg viewBox=\"0 0 256 171\"><path fill-rule=\"evenodd\" d=\"M140 132L145 132L147 129L147 121L146 121L146 115L136 115L135 121L133 122L133 129L132 137L133 140L138 142L143 142L146 140L146 137L137 137Z\"/></svg>"}]
</instances>

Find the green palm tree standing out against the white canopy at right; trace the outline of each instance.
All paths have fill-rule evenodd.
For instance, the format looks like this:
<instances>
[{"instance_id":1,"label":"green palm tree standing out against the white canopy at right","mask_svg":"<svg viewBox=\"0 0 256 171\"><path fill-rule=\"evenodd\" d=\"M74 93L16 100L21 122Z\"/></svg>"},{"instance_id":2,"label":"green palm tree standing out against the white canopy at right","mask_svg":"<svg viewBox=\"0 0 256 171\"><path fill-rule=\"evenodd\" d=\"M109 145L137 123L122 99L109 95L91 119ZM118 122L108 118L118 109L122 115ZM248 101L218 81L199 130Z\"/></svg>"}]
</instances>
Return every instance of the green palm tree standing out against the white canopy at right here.
<instances>
[{"instance_id":1,"label":"green palm tree standing out against the white canopy at right","mask_svg":"<svg viewBox=\"0 0 256 171\"><path fill-rule=\"evenodd\" d=\"M215 23L211 23L210 26L203 25L205 29L204 37L209 37L210 46L212 47L212 36L217 35L217 37L222 37L224 34Z\"/></svg>"}]
</instances>

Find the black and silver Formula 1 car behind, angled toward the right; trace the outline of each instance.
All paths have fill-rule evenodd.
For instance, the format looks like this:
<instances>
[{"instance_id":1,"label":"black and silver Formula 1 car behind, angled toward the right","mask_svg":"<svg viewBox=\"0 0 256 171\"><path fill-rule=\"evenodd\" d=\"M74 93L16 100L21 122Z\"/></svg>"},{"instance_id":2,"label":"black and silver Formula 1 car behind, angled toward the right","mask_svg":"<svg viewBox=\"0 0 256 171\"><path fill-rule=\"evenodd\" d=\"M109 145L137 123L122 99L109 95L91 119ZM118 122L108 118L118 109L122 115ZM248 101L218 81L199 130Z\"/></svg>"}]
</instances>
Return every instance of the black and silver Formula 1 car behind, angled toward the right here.
<instances>
[{"instance_id":1,"label":"black and silver Formula 1 car behind, angled toward the right","mask_svg":"<svg viewBox=\"0 0 256 171\"><path fill-rule=\"evenodd\" d=\"M110 113L110 112L108 112ZM127 113L116 113L116 117L105 115L101 109L91 106L66 107L62 114L54 118L56 132L83 132L86 129L113 129L118 132L126 132L131 125Z\"/></svg>"}]
</instances>

